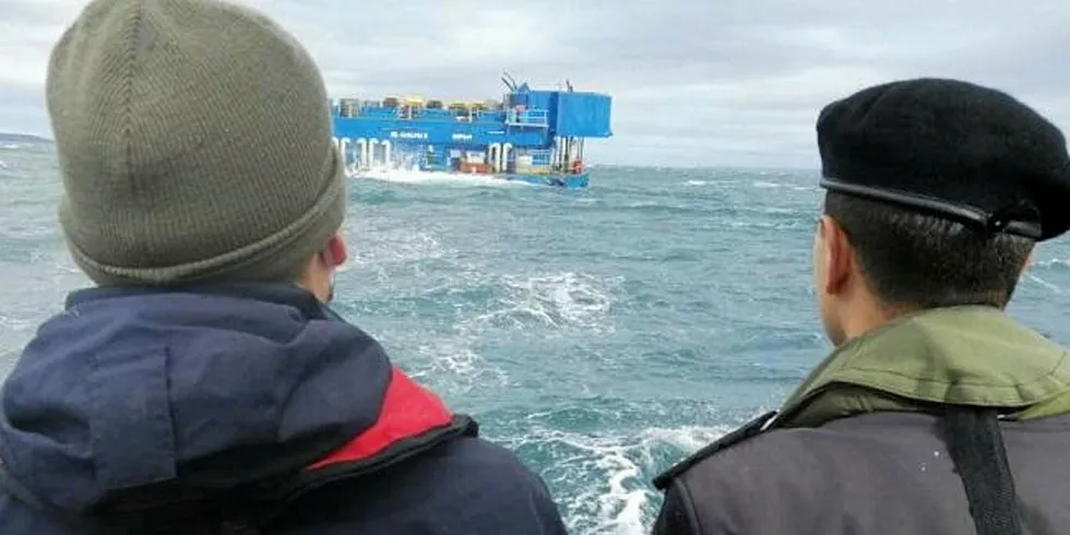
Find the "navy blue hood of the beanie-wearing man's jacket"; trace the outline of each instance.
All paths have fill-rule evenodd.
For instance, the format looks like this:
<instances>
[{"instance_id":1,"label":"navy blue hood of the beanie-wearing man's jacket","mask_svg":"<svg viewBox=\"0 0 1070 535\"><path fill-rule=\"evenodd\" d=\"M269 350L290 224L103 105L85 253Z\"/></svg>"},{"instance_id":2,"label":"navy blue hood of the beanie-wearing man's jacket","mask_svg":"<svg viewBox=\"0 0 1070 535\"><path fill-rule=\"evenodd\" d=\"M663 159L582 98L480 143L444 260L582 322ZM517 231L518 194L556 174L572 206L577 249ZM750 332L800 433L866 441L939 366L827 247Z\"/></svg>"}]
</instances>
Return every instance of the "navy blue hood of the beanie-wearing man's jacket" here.
<instances>
[{"instance_id":1,"label":"navy blue hood of the beanie-wearing man's jacket","mask_svg":"<svg viewBox=\"0 0 1070 535\"><path fill-rule=\"evenodd\" d=\"M293 285L84 289L5 380L0 460L71 512L158 484L233 488L344 450L399 377L374 340Z\"/></svg>"}]
</instances>

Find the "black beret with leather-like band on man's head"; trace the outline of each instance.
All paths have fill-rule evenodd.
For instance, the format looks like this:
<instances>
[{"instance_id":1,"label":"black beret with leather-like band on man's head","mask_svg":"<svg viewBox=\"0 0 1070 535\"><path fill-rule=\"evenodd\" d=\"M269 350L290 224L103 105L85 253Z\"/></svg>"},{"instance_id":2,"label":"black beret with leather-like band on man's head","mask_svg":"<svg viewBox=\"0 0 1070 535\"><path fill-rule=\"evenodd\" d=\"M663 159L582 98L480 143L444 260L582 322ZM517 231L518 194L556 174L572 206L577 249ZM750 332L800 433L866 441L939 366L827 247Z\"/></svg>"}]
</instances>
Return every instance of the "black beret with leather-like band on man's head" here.
<instances>
[{"instance_id":1,"label":"black beret with leather-like band on man's head","mask_svg":"<svg viewBox=\"0 0 1070 535\"><path fill-rule=\"evenodd\" d=\"M821 186L1037 241L1070 229L1062 132L1014 97L916 79L833 102L817 123Z\"/></svg>"}]
</instances>

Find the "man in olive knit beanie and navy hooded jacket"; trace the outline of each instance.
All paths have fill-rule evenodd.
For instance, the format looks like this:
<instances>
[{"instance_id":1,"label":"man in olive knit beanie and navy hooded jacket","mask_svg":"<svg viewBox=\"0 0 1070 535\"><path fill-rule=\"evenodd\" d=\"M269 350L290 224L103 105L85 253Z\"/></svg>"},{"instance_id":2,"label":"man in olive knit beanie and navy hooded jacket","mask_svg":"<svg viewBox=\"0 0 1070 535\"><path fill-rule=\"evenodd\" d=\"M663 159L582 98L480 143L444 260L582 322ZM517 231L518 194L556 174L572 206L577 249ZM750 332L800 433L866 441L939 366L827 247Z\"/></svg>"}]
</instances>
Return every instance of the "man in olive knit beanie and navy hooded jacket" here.
<instances>
[{"instance_id":1,"label":"man in olive knit beanie and navy hooded jacket","mask_svg":"<svg viewBox=\"0 0 1070 535\"><path fill-rule=\"evenodd\" d=\"M537 475L328 307L344 176L285 31L95 0L47 102L96 287L5 380L0 533L564 533Z\"/></svg>"}]
</instances>

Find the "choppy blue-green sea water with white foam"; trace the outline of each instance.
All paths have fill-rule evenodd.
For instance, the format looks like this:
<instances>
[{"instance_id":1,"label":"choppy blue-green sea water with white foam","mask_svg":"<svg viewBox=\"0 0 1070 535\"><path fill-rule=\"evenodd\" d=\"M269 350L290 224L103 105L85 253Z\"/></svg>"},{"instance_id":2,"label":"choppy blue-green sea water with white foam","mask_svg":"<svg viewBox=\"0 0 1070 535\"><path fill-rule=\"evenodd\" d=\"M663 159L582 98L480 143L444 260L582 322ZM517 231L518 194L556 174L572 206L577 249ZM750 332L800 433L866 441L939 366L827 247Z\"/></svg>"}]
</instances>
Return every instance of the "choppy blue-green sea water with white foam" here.
<instances>
[{"instance_id":1,"label":"choppy blue-green sea water with white foam","mask_svg":"<svg viewBox=\"0 0 1070 535\"><path fill-rule=\"evenodd\" d=\"M0 373L86 284L56 225L49 145L0 147ZM586 191L394 174L349 183L337 310L473 414L572 533L645 533L650 479L829 350L810 292L813 171L594 168ZM1070 343L1070 239L1011 313Z\"/></svg>"}]
</instances>

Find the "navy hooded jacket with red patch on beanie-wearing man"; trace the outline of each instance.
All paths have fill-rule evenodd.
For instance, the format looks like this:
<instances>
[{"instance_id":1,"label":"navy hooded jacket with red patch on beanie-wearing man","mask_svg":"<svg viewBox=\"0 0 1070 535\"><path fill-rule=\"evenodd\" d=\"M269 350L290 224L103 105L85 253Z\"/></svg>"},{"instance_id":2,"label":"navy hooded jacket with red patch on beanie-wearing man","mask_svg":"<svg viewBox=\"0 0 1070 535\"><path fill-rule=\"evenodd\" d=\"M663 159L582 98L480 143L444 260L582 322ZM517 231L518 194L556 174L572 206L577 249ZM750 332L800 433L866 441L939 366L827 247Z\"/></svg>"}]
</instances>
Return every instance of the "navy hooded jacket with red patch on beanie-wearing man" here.
<instances>
[{"instance_id":1,"label":"navy hooded jacket with red patch on beanie-wearing man","mask_svg":"<svg viewBox=\"0 0 1070 535\"><path fill-rule=\"evenodd\" d=\"M476 432L296 286L84 289L5 380L0 533L563 535Z\"/></svg>"}]
</instances>

